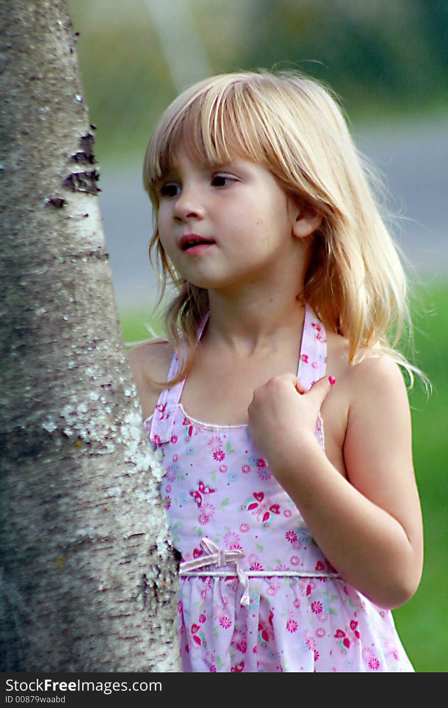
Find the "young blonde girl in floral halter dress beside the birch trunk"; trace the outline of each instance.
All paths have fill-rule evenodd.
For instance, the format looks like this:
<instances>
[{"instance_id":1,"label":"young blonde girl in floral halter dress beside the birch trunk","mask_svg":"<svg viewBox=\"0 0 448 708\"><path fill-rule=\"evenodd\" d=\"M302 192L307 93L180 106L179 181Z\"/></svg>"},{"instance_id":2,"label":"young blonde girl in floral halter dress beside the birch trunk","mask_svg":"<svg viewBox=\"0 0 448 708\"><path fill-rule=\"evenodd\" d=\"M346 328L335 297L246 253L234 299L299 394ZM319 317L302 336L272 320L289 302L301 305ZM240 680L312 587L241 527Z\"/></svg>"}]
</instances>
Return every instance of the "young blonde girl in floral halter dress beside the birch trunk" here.
<instances>
[{"instance_id":1,"label":"young blonde girl in floral halter dress beside the birch trunk","mask_svg":"<svg viewBox=\"0 0 448 708\"><path fill-rule=\"evenodd\" d=\"M201 81L144 185L178 296L130 362L182 555L183 670L412 671L390 612L423 554L388 343L405 284L338 105L295 74Z\"/></svg>"}]
</instances>

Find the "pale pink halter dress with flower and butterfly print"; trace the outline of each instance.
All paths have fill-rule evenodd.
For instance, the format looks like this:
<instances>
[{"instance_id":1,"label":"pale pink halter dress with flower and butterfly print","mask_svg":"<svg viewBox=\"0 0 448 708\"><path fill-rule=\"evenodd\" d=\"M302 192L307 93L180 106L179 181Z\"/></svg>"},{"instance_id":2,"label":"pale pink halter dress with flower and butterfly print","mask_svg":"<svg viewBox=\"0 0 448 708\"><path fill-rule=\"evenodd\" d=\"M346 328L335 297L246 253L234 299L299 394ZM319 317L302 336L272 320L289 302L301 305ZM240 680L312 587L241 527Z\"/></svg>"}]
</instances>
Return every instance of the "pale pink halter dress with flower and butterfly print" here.
<instances>
[{"instance_id":1,"label":"pale pink halter dress with flower and butterfly print","mask_svg":"<svg viewBox=\"0 0 448 708\"><path fill-rule=\"evenodd\" d=\"M325 370L323 324L306 307L297 375L309 389ZM145 421L163 452L161 493L182 554L183 671L413 671L391 612L331 567L247 426L188 416L183 383ZM323 447L320 418L316 437Z\"/></svg>"}]
</instances>

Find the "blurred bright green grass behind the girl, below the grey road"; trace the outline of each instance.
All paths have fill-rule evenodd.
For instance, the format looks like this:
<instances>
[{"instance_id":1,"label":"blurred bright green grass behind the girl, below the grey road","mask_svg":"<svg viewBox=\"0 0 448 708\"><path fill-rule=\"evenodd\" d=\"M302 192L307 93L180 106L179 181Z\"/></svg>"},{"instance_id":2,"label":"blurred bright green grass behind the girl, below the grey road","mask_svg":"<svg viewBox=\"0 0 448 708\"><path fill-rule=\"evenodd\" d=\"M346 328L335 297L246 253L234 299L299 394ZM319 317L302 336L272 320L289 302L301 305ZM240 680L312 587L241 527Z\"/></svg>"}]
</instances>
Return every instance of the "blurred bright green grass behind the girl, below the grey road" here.
<instances>
[{"instance_id":1,"label":"blurred bright green grass behind the girl, below the grey road","mask_svg":"<svg viewBox=\"0 0 448 708\"><path fill-rule=\"evenodd\" d=\"M448 668L448 282L420 285L413 297L414 358L430 379L427 396L417 380L410 392L413 418L415 474L423 508L425 565L414 597L394 611L398 632L419 673L444 673ZM149 338L150 323L160 326L151 312L120 312L125 341Z\"/></svg>"}]
</instances>

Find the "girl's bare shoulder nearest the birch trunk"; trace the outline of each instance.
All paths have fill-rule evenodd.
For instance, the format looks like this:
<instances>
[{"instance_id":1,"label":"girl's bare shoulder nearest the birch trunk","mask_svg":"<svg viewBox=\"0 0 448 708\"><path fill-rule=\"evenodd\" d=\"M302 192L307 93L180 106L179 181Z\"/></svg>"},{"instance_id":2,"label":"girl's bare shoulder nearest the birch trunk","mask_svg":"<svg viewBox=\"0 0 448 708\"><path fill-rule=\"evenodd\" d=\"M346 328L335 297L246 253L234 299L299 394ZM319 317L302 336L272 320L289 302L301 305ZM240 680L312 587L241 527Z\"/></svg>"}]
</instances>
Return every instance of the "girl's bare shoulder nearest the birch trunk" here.
<instances>
[{"instance_id":1,"label":"girl's bare shoulder nearest the birch trunk","mask_svg":"<svg viewBox=\"0 0 448 708\"><path fill-rule=\"evenodd\" d=\"M127 352L144 419L154 413L173 358L173 346L165 339L139 343Z\"/></svg>"}]
</instances>

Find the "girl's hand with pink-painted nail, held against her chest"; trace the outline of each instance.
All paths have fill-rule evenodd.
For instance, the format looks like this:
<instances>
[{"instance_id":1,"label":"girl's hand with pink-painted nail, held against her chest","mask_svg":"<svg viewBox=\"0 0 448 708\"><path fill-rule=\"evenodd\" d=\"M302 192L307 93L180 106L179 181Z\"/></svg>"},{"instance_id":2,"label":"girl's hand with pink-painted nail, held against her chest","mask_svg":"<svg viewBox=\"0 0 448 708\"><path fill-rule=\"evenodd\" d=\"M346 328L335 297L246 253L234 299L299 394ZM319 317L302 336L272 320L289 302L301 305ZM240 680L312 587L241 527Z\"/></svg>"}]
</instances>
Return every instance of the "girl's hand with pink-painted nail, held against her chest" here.
<instances>
[{"instance_id":1,"label":"girl's hand with pink-painted nail, held against her chest","mask_svg":"<svg viewBox=\"0 0 448 708\"><path fill-rule=\"evenodd\" d=\"M284 374L255 389L248 407L249 433L278 481L283 463L297 459L298 444L302 449L318 445L316 420L334 384L333 377L323 377L306 392L296 376Z\"/></svg>"}]
</instances>

